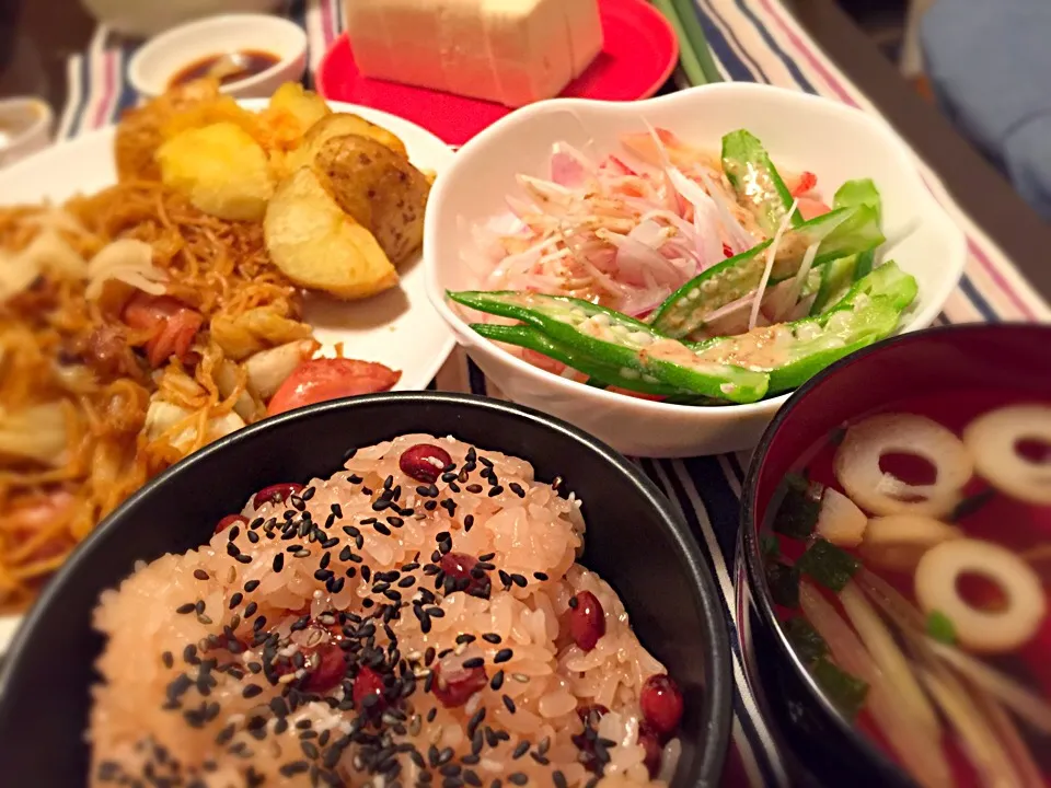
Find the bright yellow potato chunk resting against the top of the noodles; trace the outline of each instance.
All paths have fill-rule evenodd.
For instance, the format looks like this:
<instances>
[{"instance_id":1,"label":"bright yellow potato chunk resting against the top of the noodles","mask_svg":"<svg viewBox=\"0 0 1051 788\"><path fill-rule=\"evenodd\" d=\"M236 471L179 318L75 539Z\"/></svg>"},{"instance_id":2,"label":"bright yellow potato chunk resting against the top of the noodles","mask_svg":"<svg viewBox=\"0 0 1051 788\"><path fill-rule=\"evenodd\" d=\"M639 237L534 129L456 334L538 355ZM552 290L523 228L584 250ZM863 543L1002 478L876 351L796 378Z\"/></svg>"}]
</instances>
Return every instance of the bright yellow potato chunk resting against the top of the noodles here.
<instances>
[{"instance_id":1,"label":"bright yellow potato chunk resting against the top of the noodles","mask_svg":"<svg viewBox=\"0 0 1051 788\"><path fill-rule=\"evenodd\" d=\"M257 221L274 194L266 152L232 123L176 135L158 149L157 162L165 186L220 219Z\"/></svg>"}]
</instances>

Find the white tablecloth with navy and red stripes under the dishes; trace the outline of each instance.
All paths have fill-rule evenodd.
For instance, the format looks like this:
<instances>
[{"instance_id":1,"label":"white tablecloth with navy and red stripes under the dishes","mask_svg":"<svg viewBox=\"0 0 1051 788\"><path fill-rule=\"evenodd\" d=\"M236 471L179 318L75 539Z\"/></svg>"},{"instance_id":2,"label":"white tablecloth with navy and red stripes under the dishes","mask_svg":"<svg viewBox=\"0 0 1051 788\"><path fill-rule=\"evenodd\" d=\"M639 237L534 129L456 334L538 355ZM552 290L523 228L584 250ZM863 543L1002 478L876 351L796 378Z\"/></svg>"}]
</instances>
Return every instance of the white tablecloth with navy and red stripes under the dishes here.
<instances>
[{"instance_id":1,"label":"white tablecloth with navy and red stripes under the dishes","mask_svg":"<svg viewBox=\"0 0 1051 788\"><path fill-rule=\"evenodd\" d=\"M778 0L695 0L716 62L727 80L765 82L817 93L878 114L796 23ZM338 0L293 0L286 9L310 39L310 69L342 30ZM125 78L132 45L99 28L89 49L70 58L69 101L61 113L59 136L72 137L116 120L136 103ZM917 160L919 161L919 160ZM1015 266L952 201L922 161L928 187L968 236L970 258L960 287L952 293L938 323L975 321L1051 321L1051 309ZM458 351L439 374L437 386L495 394L482 373ZM784 767L744 684L744 669L736 630L731 568L737 546L738 497L747 453L694 460L642 461L646 473L682 510L708 558L723 596L732 642L734 752L728 785L786 785Z\"/></svg>"}]
</instances>

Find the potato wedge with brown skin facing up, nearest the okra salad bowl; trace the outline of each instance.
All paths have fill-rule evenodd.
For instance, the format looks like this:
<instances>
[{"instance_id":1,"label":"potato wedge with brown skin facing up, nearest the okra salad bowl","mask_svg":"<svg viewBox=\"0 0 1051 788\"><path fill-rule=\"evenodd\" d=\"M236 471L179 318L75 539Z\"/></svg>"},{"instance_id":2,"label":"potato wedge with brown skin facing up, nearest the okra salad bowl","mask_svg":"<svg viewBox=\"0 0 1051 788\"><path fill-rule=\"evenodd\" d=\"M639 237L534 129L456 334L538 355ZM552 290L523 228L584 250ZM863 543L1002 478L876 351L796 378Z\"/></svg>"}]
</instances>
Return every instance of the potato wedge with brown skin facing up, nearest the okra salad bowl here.
<instances>
[{"instance_id":1,"label":"potato wedge with brown skin facing up, nearest the okra salad bowl","mask_svg":"<svg viewBox=\"0 0 1051 788\"><path fill-rule=\"evenodd\" d=\"M420 247L430 183L405 157L376 139L345 135L321 147L314 169L339 207L376 236L394 265Z\"/></svg>"}]
</instances>

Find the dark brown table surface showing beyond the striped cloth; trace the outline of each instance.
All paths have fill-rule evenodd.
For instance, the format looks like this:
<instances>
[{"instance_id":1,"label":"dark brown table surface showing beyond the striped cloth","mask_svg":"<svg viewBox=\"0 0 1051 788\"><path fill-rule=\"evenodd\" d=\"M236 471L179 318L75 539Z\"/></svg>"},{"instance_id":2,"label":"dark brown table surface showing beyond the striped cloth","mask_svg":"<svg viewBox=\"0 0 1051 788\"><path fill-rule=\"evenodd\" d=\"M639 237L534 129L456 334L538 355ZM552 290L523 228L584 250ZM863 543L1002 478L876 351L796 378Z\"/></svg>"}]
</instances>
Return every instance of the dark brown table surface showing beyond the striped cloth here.
<instances>
[{"instance_id":1,"label":"dark brown table surface showing beyond the striped cloth","mask_svg":"<svg viewBox=\"0 0 1051 788\"><path fill-rule=\"evenodd\" d=\"M1051 299L1051 266L1046 263L1051 224L1018 197L936 107L916 94L833 0L796 0L790 7L836 65L938 173L959 205L1033 287ZM93 28L78 0L0 0L0 97L41 95L60 112L66 59L88 46Z\"/></svg>"}]
</instances>

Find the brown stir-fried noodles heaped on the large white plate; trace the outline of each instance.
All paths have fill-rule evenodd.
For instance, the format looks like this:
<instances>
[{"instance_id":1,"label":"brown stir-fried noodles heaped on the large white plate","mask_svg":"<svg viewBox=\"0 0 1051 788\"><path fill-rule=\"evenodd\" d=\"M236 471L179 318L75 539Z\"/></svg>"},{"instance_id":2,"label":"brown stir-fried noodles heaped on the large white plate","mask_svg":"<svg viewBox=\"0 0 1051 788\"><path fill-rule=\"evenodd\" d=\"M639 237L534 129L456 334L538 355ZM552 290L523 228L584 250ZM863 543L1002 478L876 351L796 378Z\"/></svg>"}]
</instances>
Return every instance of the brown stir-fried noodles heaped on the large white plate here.
<instances>
[{"instance_id":1,"label":"brown stir-fried noodles heaped on the large white plate","mask_svg":"<svg viewBox=\"0 0 1051 788\"><path fill-rule=\"evenodd\" d=\"M127 285L111 281L90 300L86 279L51 269L0 302L4 607L24 605L101 518L212 439L208 425L239 401L246 418L231 420L263 415L239 361L311 336L297 290L268 262L262 228L206 216L159 183L122 183L63 211L0 210L0 250L9 257L42 233L57 233L85 260L117 239L148 243L165 293L198 312L204 326L186 363L150 370L136 351L157 328L119 321L134 298ZM151 395L182 410L147 437Z\"/></svg>"}]
</instances>

